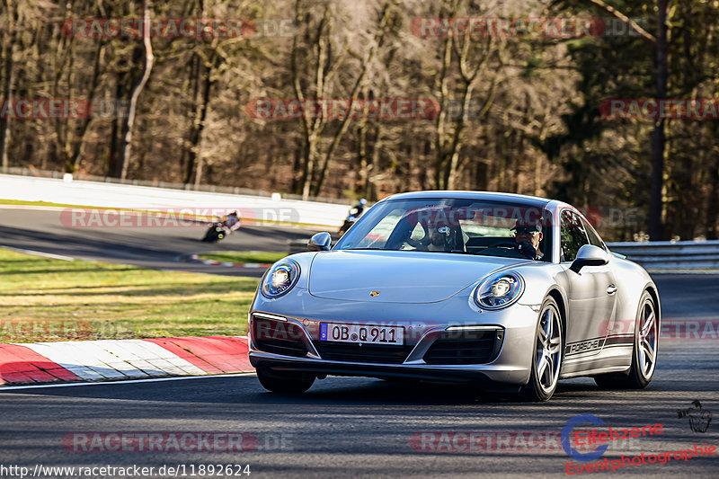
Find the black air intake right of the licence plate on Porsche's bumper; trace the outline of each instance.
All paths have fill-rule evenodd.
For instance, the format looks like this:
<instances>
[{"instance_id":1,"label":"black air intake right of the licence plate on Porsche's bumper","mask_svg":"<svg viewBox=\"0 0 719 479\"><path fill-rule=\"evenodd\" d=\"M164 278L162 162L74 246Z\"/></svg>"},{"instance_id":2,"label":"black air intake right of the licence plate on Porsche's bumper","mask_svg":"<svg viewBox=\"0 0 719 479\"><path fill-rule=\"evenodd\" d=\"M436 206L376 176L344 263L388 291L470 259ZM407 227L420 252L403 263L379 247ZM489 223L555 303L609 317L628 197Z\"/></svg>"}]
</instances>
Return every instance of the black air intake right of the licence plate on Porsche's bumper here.
<instances>
[{"instance_id":1,"label":"black air intake right of the licence plate on Porsche's bumper","mask_svg":"<svg viewBox=\"0 0 719 479\"><path fill-rule=\"evenodd\" d=\"M496 358L504 331L445 331L424 353L427 364L484 364Z\"/></svg>"}]
</instances>

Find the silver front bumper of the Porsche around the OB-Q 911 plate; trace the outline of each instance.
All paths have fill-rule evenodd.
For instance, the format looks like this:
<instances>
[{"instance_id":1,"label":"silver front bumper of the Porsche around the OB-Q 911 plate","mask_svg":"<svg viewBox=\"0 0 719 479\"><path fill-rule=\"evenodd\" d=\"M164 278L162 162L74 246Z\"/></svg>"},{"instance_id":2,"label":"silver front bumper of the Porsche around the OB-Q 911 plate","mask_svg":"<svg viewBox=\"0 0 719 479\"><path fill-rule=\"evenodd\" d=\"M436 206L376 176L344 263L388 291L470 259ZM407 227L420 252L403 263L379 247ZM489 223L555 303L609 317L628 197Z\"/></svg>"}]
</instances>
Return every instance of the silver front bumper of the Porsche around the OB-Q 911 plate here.
<instances>
[{"instance_id":1,"label":"silver front bumper of the Porsche around the OB-Q 911 plate","mask_svg":"<svg viewBox=\"0 0 719 479\"><path fill-rule=\"evenodd\" d=\"M396 318L446 317L447 305L442 305L444 302L434 305L384 304L381 311L375 312L373 319L367 319L367 305L361 307L357 304L344 303L342 309L335 310L337 303L332 301L327 308L313 307L314 311L323 311L324 314L314 314L312 317L288 315L287 311L282 311L278 307L253 309L250 314L249 330L250 361L253 366L264 369L270 374L271 371L302 371L317 376L408 377L473 383L490 390L516 391L520 386L528 383L537 327L537 311L531 306L515 304L499 311L482 312L475 309L469 311L471 315L460 316L452 321L437 321ZM272 306L279 306L279 303ZM463 306L466 309L466 303ZM438 314L439 309L445 309L441 315ZM253 327L255 321L263 318L275 318L286 324L290 335L300 341L305 349L297 348L297 350L288 350L287 353L280 353L282 350L265 347L265 343L262 343L262 338L257 337L258 333ZM402 325L405 332L404 352L398 359L387 361L381 358L363 361L361 355L353 355L350 360L339 360L336 357L328 359L332 355L327 354L326 349L323 352L324 344L320 344L319 340L321 323ZM437 364L436 361L433 364L428 363L427 353L432 345L444 338L447 332L454 331L485 331L499 334L492 354L482 363ZM354 350L356 351L357 348L354 347Z\"/></svg>"}]
</instances>

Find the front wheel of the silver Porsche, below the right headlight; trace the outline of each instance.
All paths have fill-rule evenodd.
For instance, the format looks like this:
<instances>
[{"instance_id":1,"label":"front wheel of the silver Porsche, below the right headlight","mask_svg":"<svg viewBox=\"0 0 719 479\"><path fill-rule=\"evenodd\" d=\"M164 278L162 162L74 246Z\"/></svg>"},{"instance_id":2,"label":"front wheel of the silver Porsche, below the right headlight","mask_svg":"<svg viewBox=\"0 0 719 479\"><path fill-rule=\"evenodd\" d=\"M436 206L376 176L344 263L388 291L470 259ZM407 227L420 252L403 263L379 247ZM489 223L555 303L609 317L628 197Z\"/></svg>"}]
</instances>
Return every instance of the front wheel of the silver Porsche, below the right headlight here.
<instances>
[{"instance_id":1,"label":"front wheel of the silver Porsche, below the right headlight","mask_svg":"<svg viewBox=\"0 0 719 479\"><path fill-rule=\"evenodd\" d=\"M559 306L553 297L546 297L537 317L532 369L529 382L521 391L532 402L548 401L555 394L564 359L564 328Z\"/></svg>"}]
</instances>

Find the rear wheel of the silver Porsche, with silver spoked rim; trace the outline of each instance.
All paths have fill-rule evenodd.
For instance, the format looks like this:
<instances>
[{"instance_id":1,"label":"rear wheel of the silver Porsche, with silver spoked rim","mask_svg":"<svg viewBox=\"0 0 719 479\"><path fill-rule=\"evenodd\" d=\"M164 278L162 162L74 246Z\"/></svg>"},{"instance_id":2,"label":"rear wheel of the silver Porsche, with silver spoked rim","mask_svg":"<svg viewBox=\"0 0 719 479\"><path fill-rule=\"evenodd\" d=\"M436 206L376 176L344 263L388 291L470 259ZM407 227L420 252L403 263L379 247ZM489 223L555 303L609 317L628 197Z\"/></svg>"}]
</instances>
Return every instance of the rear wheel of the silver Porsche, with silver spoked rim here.
<instances>
[{"instance_id":1,"label":"rear wheel of the silver Porsche, with silver spoked rim","mask_svg":"<svg viewBox=\"0 0 719 479\"><path fill-rule=\"evenodd\" d=\"M659 323L656 306L649 291L644 291L636 311L632 366L625 373L608 373L594 377L602 389L644 389L654 376L659 346Z\"/></svg>"}]
</instances>

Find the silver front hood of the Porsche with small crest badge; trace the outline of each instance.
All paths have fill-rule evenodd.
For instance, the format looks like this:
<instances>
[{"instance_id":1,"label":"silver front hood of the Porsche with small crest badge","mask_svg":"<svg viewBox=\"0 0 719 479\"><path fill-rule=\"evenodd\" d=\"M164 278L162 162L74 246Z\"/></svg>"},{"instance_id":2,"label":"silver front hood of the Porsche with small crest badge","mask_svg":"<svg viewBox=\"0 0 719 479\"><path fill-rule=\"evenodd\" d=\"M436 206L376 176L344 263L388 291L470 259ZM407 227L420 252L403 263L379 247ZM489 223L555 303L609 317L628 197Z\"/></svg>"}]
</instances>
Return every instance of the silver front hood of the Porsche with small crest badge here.
<instances>
[{"instance_id":1,"label":"silver front hood of the Porsche with small crest badge","mask_svg":"<svg viewBox=\"0 0 719 479\"><path fill-rule=\"evenodd\" d=\"M345 301L435 303L495 270L524 262L452 253L331 251L315 255L309 292Z\"/></svg>"}]
</instances>

